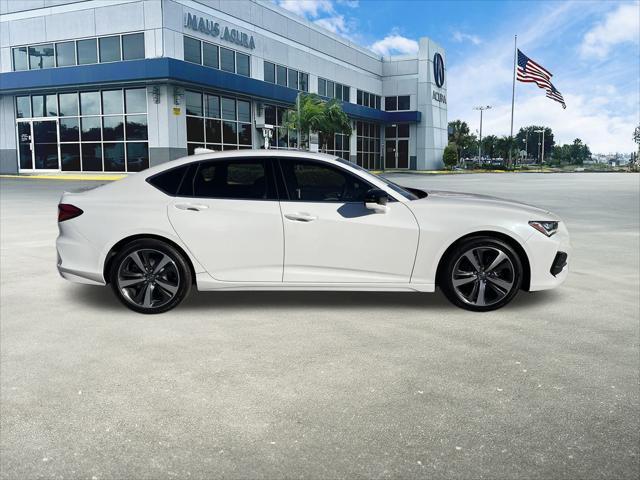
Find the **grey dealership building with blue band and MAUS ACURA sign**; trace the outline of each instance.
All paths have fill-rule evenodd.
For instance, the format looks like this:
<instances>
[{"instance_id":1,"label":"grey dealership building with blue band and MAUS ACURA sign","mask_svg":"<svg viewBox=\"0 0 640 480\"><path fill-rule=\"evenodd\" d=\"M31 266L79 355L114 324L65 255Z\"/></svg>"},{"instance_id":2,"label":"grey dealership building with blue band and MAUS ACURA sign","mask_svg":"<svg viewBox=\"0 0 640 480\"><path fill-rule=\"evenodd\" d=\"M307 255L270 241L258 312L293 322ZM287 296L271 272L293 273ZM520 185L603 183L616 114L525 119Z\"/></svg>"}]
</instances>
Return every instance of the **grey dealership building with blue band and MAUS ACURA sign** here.
<instances>
[{"instance_id":1,"label":"grey dealership building with blue band and MAUS ACURA sign","mask_svg":"<svg viewBox=\"0 0 640 480\"><path fill-rule=\"evenodd\" d=\"M0 0L0 173L133 172L190 153L326 150L440 168L445 55L382 57L260 0ZM283 126L299 92L351 135Z\"/></svg>"}]
</instances>

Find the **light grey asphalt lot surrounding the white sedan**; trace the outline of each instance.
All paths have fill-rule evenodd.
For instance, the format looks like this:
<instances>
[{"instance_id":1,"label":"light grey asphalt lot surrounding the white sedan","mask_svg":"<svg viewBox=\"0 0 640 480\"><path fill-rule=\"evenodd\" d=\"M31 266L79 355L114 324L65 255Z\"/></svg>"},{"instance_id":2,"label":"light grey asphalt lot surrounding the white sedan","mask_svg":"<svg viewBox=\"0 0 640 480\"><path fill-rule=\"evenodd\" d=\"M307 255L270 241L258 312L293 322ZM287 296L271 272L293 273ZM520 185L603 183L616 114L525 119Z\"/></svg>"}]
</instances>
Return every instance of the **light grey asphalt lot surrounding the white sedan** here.
<instances>
[{"instance_id":1,"label":"light grey asphalt lot surrounding the white sedan","mask_svg":"<svg viewBox=\"0 0 640 480\"><path fill-rule=\"evenodd\" d=\"M56 272L82 182L1 179L0 478L638 478L640 176L393 178L553 210L567 282L487 314L237 292L138 315Z\"/></svg>"}]
</instances>

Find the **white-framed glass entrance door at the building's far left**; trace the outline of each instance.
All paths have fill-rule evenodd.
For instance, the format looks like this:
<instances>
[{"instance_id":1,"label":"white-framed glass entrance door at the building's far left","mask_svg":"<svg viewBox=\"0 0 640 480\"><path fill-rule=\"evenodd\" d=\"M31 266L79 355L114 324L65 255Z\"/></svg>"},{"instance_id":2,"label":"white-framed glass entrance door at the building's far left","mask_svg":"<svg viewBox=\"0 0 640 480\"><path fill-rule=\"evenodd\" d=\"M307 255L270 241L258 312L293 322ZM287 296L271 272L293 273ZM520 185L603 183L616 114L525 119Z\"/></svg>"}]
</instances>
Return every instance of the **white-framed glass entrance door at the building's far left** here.
<instances>
[{"instance_id":1,"label":"white-framed glass entrance door at the building's far left","mask_svg":"<svg viewBox=\"0 0 640 480\"><path fill-rule=\"evenodd\" d=\"M60 170L58 122L19 121L18 155L20 170Z\"/></svg>"}]
</instances>

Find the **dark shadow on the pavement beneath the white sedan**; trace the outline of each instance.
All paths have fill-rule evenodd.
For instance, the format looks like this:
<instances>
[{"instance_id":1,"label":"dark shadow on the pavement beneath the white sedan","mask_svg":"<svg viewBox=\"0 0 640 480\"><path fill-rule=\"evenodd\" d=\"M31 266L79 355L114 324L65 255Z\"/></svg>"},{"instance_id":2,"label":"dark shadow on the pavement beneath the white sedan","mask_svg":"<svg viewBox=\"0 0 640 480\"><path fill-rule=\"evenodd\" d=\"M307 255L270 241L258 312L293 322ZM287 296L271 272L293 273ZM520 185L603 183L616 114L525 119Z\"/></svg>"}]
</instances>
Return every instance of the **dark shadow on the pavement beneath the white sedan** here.
<instances>
[{"instance_id":1,"label":"dark shadow on the pavement beneath the white sedan","mask_svg":"<svg viewBox=\"0 0 640 480\"><path fill-rule=\"evenodd\" d=\"M79 289L77 291L75 289ZM87 307L104 310L121 310L124 307L115 298L111 288L74 285L70 289L74 301ZM561 302L555 291L520 292L508 310L535 308L548 302ZM245 291L245 292L197 292L193 291L179 307L180 311L246 308L399 308L399 309L455 309L441 291L435 293L412 292L296 292L296 291ZM460 310L462 312L462 310Z\"/></svg>"}]
</instances>

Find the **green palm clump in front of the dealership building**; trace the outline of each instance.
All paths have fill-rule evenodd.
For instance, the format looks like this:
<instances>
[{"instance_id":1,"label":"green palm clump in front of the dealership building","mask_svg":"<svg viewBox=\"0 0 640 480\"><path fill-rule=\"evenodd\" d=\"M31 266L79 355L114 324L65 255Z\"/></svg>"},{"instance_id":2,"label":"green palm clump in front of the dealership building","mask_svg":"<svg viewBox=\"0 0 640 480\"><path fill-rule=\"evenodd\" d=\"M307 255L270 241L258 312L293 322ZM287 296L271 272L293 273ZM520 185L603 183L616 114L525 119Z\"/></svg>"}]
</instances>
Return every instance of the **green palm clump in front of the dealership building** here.
<instances>
[{"instance_id":1,"label":"green palm clump in front of the dealership building","mask_svg":"<svg viewBox=\"0 0 640 480\"><path fill-rule=\"evenodd\" d=\"M351 135L351 122L342 105L335 99L325 101L315 93L299 93L295 109L287 111L283 123L302 133L318 132L325 141L338 132Z\"/></svg>"}]
</instances>

